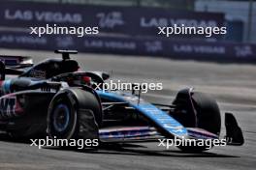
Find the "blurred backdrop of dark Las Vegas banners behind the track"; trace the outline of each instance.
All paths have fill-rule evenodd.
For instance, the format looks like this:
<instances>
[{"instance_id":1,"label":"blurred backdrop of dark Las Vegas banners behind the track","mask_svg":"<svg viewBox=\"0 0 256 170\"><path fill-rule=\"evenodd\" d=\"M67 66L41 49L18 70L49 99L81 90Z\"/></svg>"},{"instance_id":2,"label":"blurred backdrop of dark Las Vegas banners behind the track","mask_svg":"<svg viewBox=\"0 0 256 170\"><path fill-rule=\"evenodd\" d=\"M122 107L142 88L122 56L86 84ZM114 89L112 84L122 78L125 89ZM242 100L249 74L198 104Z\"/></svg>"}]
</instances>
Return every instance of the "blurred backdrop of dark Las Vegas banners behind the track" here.
<instances>
[{"instance_id":1,"label":"blurred backdrop of dark Las Vegas banners behind the track","mask_svg":"<svg viewBox=\"0 0 256 170\"><path fill-rule=\"evenodd\" d=\"M0 6L0 47L232 62L256 59L254 0L9 0ZM29 26L99 26L100 34L29 34ZM226 26L226 35L159 36L158 26Z\"/></svg>"}]
</instances>

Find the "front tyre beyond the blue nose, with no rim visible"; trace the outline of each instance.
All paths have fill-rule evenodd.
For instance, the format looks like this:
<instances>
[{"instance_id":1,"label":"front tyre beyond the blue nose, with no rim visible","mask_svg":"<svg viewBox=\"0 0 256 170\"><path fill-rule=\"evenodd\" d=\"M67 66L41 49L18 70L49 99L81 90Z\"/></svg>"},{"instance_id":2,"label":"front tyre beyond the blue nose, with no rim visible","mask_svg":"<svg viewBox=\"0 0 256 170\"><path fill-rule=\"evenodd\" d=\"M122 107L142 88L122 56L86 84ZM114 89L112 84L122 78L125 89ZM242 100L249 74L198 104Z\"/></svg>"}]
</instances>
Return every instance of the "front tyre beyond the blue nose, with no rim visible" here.
<instances>
[{"instance_id":1,"label":"front tyre beyond the blue nose, with no rim visible","mask_svg":"<svg viewBox=\"0 0 256 170\"><path fill-rule=\"evenodd\" d=\"M184 89L178 92L173 102L176 105L172 115L186 128L204 128L219 134L221 120L217 102L200 92ZM196 113L195 113L196 112Z\"/></svg>"}]
</instances>

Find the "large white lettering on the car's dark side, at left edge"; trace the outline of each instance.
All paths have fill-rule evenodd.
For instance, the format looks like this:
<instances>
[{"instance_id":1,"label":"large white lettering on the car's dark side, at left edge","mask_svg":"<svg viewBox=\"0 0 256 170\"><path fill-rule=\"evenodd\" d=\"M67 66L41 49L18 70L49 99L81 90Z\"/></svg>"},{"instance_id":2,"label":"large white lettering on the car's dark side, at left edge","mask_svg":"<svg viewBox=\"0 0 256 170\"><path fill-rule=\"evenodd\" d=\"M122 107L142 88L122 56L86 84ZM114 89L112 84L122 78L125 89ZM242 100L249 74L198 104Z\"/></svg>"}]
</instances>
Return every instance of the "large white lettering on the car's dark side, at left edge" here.
<instances>
[{"instance_id":1,"label":"large white lettering on the car's dark side, at left edge","mask_svg":"<svg viewBox=\"0 0 256 170\"><path fill-rule=\"evenodd\" d=\"M0 99L0 117L10 118L16 115L16 98Z\"/></svg>"}]
</instances>

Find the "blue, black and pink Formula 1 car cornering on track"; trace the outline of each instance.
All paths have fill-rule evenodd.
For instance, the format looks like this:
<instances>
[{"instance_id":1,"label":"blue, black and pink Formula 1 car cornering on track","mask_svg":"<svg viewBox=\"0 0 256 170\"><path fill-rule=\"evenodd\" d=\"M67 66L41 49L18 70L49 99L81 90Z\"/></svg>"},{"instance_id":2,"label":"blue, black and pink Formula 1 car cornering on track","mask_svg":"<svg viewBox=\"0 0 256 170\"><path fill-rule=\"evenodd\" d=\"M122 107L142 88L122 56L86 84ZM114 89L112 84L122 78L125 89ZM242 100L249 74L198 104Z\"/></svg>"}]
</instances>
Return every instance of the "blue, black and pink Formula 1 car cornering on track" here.
<instances>
[{"instance_id":1,"label":"blue, black and pink Formula 1 car cornering on track","mask_svg":"<svg viewBox=\"0 0 256 170\"><path fill-rule=\"evenodd\" d=\"M183 89L170 105L149 103L141 92L103 91L110 77L101 71L80 71L72 50L62 58L34 65L29 57L0 56L0 129L15 138L48 135L60 139L97 138L100 142L142 142L160 138L218 139L218 105L207 95ZM95 90L98 87L97 90ZM231 113L225 114L229 145L243 136ZM203 146L179 146L205 151Z\"/></svg>"}]
</instances>

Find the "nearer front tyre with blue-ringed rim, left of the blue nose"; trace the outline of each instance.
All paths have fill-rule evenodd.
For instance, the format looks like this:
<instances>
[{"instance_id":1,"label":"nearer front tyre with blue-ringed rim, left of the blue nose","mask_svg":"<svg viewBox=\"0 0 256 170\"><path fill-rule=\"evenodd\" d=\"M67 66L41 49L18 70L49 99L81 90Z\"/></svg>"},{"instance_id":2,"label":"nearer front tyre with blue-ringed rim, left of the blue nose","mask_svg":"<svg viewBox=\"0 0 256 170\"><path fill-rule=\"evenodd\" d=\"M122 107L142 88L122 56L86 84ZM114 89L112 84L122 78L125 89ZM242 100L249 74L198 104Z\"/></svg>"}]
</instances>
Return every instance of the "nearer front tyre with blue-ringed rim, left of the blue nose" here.
<instances>
[{"instance_id":1,"label":"nearer front tyre with blue-ringed rim, left of the blue nose","mask_svg":"<svg viewBox=\"0 0 256 170\"><path fill-rule=\"evenodd\" d=\"M92 128L97 127L98 130L102 111L95 94L75 88L58 92L48 106L48 135L59 139L80 138L80 128L85 124L84 110L91 113L93 119L90 119L89 124L96 125Z\"/></svg>"}]
</instances>

